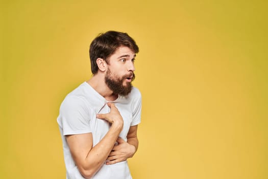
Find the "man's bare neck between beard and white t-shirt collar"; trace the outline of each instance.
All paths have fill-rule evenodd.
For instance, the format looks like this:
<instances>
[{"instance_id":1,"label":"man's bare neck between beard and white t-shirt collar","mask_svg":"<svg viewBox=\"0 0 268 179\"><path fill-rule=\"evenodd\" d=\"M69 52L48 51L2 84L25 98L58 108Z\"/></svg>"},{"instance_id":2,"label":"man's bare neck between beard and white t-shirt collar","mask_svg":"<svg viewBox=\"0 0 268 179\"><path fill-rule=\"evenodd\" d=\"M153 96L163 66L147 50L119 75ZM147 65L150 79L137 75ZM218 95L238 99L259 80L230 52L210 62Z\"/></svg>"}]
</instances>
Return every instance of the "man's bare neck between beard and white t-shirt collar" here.
<instances>
[{"instance_id":1,"label":"man's bare neck between beard and white t-shirt collar","mask_svg":"<svg viewBox=\"0 0 268 179\"><path fill-rule=\"evenodd\" d=\"M114 101L118 98L105 83L105 76L103 74L95 74L87 81L87 83L102 95L107 101Z\"/></svg>"}]
</instances>

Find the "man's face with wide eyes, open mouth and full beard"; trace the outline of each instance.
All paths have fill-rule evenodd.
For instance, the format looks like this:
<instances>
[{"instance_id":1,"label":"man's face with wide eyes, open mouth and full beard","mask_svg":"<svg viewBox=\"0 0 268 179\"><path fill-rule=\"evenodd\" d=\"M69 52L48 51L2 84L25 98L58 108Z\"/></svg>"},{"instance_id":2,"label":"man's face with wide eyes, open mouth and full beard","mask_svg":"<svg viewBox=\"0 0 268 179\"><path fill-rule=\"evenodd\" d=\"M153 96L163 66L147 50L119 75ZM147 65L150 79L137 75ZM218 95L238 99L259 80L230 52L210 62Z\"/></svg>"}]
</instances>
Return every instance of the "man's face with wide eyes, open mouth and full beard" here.
<instances>
[{"instance_id":1,"label":"man's face with wide eyes, open mouth and full beard","mask_svg":"<svg viewBox=\"0 0 268 179\"><path fill-rule=\"evenodd\" d=\"M131 82L135 79L135 56L136 54L128 47L119 47L109 57L105 82L113 93L126 96L131 92Z\"/></svg>"}]
</instances>

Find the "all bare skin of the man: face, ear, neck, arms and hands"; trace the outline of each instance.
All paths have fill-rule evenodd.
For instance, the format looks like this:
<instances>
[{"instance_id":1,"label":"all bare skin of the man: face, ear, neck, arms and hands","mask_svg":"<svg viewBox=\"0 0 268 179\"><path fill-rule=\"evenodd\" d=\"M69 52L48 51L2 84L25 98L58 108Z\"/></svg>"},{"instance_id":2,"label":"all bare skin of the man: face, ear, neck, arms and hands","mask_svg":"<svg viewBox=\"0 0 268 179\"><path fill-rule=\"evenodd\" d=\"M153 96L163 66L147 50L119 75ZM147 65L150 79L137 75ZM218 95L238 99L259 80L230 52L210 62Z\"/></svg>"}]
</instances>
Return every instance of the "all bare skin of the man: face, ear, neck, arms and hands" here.
<instances>
[{"instance_id":1,"label":"all bare skin of the man: face, ear, neck, arms and hands","mask_svg":"<svg viewBox=\"0 0 268 179\"><path fill-rule=\"evenodd\" d=\"M135 71L134 58L135 53L128 47L119 47L114 54L109 57L109 64L102 58L96 60L99 71L87 81L99 94L107 101L114 101L118 95L114 94L105 83L105 75L110 69L111 77L121 78L126 74ZM129 83L129 79L123 81L123 85ZM74 159L80 173L85 178L91 178L106 162L107 165L122 162L131 158L138 148L137 125L131 126L127 135L127 142L118 138L123 129L124 121L118 109L113 103L108 103L111 108L110 113L98 114L96 118L106 120L111 127L104 138L92 147L92 133L81 135L66 136L66 141L70 148L72 158ZM117 141L118 145L114 145Z\"/></svg>"}]
</instances>

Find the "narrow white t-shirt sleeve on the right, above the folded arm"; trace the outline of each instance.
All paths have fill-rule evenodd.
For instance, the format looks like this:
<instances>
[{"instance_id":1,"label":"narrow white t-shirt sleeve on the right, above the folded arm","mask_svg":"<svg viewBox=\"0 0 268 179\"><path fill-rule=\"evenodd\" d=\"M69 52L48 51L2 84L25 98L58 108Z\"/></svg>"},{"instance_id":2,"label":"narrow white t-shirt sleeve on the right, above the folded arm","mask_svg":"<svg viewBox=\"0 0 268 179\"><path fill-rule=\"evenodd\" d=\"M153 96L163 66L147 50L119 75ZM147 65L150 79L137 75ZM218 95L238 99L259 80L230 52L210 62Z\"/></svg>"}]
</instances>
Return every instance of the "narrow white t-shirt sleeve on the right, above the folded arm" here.
<instances>
[{"instance_id":1,"label":"narrow white t-shirt sleeve on the right, above the folded arm","mask_svg":"<svg viewBox=\"0 0 268 179\"><path fill-rule=\"evenodd\" d=\"M141 94L138 91L135 96L135 100L133 103L133 113L132 113L132 122L131 126L137 125L140 123L140 115L141 115Z\"/></svg>"}]
</instances>

